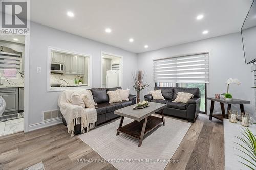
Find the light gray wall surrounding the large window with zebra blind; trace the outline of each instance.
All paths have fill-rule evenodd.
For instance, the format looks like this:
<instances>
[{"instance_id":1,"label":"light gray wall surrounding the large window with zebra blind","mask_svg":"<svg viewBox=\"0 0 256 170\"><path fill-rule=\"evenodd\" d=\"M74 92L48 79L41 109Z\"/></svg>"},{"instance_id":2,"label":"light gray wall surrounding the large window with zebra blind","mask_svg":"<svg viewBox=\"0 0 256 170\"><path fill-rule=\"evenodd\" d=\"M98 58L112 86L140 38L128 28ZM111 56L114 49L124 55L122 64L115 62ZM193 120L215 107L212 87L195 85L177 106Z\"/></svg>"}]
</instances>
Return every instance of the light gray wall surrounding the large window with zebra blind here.
<instances>
[{"instance_id":1,"label":"light gray wall surrounding the large window with zebra blind","mask_svg":"<svg viewBox=\"0 0 256 170\"><path fill-rule=\"evenodd\" d=\"M154 89L153 59L204 51L209 51L209 96L226 92L226 80L238 78L241 85L230 85L229 92L233 94L234 98L250 100L251 104L245 104L245 110L254 114L255 117L254 91L251 88L253 75L250 72L251 65L245 64L240 33L138 54L138 69L146 71L144 83L150 84L150 87L142 92L141 99L148 91ZM220 112L219 105L216 104L216 106L218 107L215 107L215 111ZM232 106L232 109L238 109L238 106Z\"/></svg>"}]
</instances>

